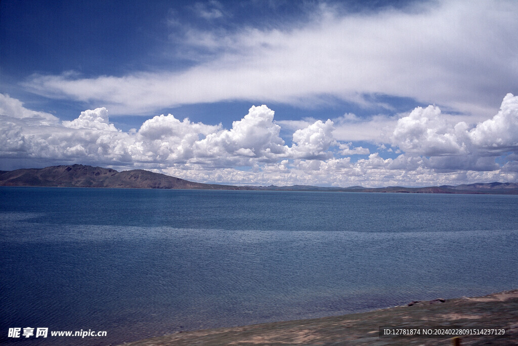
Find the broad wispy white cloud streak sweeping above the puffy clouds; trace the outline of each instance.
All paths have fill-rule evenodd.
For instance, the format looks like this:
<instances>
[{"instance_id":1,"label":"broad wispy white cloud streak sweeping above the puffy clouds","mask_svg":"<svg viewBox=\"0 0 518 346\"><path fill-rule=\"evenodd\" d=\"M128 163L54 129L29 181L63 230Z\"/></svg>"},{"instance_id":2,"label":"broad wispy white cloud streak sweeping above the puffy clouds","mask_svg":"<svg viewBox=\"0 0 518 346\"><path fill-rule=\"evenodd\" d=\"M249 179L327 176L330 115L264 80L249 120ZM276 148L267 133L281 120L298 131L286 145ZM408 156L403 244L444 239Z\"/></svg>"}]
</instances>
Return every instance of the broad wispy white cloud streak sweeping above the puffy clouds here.
<instances>
[{"instance_id":1,"label":"broad wispy white cloud streak sweeping above the puffy clouds","mask_svg":"<svg viewBox=\"0 0 518 346\"><path fill-rule=\"evenodd\" d=\"M208 17L218 10L198 8ZM50 98L102 104L112 115L228 100L315 107L329 95L368 106L363 95L384 94L479 121L516 88L518 46L509 40L518 32L516 12L511 1L439 1L365 13L322 4L290 29L244 27L225 35L189 29L178 47L186 59L195 47L195 64L181 71L33 75L24 86ZM210 52L203 61L200 51Z\"/></svg>"}]
</instances>

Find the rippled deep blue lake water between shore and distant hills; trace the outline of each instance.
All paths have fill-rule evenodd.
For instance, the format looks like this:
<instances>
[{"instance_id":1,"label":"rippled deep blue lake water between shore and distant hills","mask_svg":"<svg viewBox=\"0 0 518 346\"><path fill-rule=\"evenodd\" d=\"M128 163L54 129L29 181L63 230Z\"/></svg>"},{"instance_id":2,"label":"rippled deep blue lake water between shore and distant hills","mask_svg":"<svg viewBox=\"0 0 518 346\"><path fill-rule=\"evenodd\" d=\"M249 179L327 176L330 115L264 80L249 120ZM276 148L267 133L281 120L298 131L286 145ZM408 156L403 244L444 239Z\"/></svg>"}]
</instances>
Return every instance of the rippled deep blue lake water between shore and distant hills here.
<instances>
[{"instance_id":1,"label":"rippled deep blue lake water between shore and distant hills","mask_svg":"<svg viewBox=\"0 0 518 346\"><path fill-rule=\"evenodd\" d=\"M2 187L0 256L1 342L117 344L518 288L518 196Z\"/></svg>"}]
</instances>

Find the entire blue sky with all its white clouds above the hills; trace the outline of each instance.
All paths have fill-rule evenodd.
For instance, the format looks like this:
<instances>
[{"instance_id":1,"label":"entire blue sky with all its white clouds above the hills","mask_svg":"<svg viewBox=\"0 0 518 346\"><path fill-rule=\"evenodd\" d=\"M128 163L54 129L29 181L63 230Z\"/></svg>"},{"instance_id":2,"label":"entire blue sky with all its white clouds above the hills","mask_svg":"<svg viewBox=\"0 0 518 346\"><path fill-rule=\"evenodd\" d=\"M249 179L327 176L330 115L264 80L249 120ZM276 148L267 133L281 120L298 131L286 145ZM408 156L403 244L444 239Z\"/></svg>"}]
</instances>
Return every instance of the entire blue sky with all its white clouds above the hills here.
<instances>
[{"instance_id":1,"label":"entire blue sky with all its white clouds above the hills","mask_svg":"<svg viewBox=\"0 0 518 346\"><path fill-rule=\"evenodd\" d=\"M496 0L3 0L0 169L518 181L516 11Z\"/></svg>"}]
</instances>

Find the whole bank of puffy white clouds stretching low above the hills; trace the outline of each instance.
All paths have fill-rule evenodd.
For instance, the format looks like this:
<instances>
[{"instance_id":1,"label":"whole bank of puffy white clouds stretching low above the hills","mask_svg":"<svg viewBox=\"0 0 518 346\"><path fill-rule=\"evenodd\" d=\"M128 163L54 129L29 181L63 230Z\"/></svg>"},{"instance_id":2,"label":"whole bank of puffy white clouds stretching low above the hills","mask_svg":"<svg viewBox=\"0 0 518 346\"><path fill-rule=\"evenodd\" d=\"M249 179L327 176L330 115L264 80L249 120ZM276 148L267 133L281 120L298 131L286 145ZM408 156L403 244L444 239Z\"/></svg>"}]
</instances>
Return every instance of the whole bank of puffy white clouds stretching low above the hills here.
<instances>
[{"instance_id":1,"label":"whole bank of puffy white clouds stretching low above the hills","mask_svg":"<svg viewBox=\"0 0 518 346\"><path fill-rule=\"evenodd\" d=\"M496 115L476 126L452 121L437 106L416 107L395 122L384 142L401 151L394 159L383 157L385 145L370 153L337 139L337 125L330 119L297 129L293 144L287 146L274 111L265 105L252 106L231 129L169 114L123 132L109 122L104 107L60 122L3 94L0 116L3 165L26 159L42 165L82 162L232 184L380 186L518 180L518 96L511 93ZM358 121L354 115L343 119ZM354 161L352 155L359 158ZM498 157L506 163L497 163Z\"/></svg>"}]
</instances>

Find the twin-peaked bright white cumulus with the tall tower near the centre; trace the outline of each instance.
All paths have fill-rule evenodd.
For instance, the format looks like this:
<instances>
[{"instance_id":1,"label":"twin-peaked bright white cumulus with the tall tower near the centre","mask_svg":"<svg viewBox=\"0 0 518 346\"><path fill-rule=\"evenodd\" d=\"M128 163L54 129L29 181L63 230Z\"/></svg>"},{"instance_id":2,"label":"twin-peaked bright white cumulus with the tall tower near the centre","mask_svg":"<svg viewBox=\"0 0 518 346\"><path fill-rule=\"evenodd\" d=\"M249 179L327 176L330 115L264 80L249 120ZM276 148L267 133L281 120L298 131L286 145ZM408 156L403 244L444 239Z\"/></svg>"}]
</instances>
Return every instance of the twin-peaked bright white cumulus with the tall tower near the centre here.
<instances>
[{"instance_id":1,"label":"twin-peaked bright white cumulus with the tall tower near the centre","mask_svg":"<svg viewBox=\"0 0 518 346\"><path fill-rule=\"evenodd\" d=\"M132 137L133 156L140 162L190 163L206 168L253 166L287 156L287 146L267 106L253 106L230 130L180 121L173 115L155 116Z\"/></svg>"}]
</instances>

